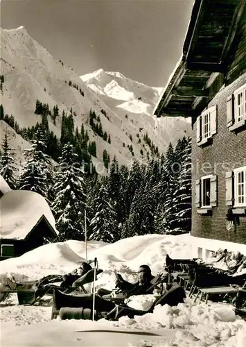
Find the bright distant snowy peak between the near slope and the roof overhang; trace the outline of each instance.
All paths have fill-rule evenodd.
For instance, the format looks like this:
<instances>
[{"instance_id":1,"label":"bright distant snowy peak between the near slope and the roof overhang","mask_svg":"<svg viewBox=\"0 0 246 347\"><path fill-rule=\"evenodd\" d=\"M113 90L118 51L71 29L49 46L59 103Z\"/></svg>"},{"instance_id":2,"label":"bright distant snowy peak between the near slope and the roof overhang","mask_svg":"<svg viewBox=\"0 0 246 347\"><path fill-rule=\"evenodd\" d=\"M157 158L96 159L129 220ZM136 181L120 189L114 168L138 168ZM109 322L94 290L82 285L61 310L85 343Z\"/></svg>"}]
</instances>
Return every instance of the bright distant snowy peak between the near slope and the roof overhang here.
<instances>
[{"instance_id":1,"label":"bright distant snowy peak between the near slope and the roof overhang","mask_svg":"<svg viewBox=\"0 0 246 347\"><path fill-rule=\"evenodd\" d=\"M103 69L80 78L120 117L123 128L133 135L133 141L136 139L134 135L141 137L147 132L159 149L166 149L169 142L175 143L178 138L191 134L189 119L152 117L161 96L161 87L149 87L119 72ZM140 132L139 128L143 130Z\"/></svg>"}]
</instances>

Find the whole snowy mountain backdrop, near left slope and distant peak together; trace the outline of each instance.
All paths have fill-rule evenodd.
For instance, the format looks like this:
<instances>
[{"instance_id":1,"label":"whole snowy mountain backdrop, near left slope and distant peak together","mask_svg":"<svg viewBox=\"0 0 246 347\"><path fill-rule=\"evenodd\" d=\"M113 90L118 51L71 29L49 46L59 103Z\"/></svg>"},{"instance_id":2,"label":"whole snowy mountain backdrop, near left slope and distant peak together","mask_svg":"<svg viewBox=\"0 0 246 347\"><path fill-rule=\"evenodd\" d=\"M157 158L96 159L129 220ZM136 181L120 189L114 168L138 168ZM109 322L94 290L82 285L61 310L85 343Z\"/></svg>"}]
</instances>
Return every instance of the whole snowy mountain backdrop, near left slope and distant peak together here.
<instances>
[{"instance_id":1,"label":"whole snowy mountain backdrop, near left slope and distant peak together","mask_svg":"<svg viewBox=\"0 0 246 347\"><path fill-rule=\"evenodd\" d=\"M34 113L37 99L48 103L51 110L58 105L60 117L56 119L56 125L49 119L50 130L58 136L62 110L69 115L70 108L73 108L78 115L74 117L75 126L80 128L82 123L85 124L90 140L96 141L99 161L103 158L104 149L111 159L116 155L121 164L130 164L132 159L145 160L150 149L148 145L143 148L139 137L142 139L146 132L161 152L170 140L175 142L184 135L184 130L190 131L186 121L180 123L177 119L150 117L159 98L159 88L137 83L118 72L105 73L103 70L84 76L84 82L71 68L54 60L23 26L12 30L1 29L1 74L4 76L1 95L4 112L12 114L21 128L35 126L41 120L41 116ZM69 81L78 85L85 96L76 87L69 86ZM91 130L89 110L95 110L100 115L103 131L110 134L111 144ZM107 112L107 117L101 110ZM130 145L134 157L128 149Z\"/></svg>"}]
</instances>

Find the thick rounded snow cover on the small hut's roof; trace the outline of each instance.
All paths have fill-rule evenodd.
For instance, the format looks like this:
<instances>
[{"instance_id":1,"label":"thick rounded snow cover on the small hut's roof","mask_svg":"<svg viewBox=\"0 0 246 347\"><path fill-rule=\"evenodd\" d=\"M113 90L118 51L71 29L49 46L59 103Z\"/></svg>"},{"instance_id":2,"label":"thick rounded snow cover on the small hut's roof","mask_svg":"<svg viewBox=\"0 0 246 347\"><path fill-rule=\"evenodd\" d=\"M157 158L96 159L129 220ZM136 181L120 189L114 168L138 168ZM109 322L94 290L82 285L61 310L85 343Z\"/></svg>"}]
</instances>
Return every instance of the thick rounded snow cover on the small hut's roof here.
<instances>
[{"instance_id":1,"label":"thick rounded snow cover on the small hut's roof","mask_svg":"<svg viewBox=\"0 0 246 347\"><path fill-rule=\"evenodd\" d=\"M0 199L0 237L24 239L44 215L55 229L55 219L43 196L27 190L11 190Z\"/></svg>"}]
</instances>

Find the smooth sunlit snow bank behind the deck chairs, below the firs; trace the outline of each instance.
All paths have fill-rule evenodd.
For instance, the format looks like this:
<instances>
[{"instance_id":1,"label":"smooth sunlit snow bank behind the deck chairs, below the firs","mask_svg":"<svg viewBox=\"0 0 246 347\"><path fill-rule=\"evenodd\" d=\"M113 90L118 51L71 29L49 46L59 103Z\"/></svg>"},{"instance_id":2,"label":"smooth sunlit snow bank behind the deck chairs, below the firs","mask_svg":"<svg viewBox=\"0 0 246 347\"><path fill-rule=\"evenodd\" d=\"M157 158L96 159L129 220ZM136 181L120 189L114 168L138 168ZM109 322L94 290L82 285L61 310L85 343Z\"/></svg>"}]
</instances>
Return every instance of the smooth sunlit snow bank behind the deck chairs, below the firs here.
<instances>
[{"instance_id":1,"label":"smooth sunlit snow bank behind the deck chairs, below the firs","mask_svg":"<svg viewBox=\"0 0 246 347\"><path fill-rule=\"evenodd\" d=\"M166 254L170 257L189 257L191 245L189 235L164 236L143 235L122 239L114 244L88 242L88 259L98 258L99 266L104 270L97 281L98 287L114 288L114 270L123 273L126 280L134 281L136 271L141 264L148 264L152 272L163 269ZM41 278L52 273L66 273L78 263L85 261L85 242L70 240L47 244L21 257L1 262L0 281L15 276L17 279L28 276Z\"/></svg>"}]
</instances>

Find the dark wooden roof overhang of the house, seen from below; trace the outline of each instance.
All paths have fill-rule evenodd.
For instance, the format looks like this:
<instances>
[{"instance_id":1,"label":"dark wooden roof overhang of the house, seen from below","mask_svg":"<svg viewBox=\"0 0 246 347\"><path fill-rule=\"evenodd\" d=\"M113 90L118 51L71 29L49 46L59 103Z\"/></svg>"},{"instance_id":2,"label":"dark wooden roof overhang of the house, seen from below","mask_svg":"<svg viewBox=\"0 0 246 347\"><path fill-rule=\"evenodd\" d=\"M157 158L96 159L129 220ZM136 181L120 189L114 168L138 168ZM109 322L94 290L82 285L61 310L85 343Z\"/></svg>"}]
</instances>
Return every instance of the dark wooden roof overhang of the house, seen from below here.
<instances>
[{"instance_id":1,"label":"dark wooden roof overhang of the house, seen from below","mask_svg":"<svg viewBox=\"0 0 246 347\"><path fill-rule=\"evenodd\" d=\"M206 107L214 78L227 69L244 7L245 0L195 0L182 60L155 109L157 117L197 117Z\"/></svg>"}]
</instances>

